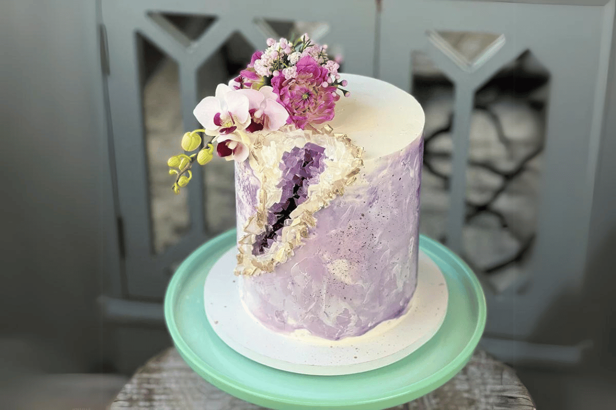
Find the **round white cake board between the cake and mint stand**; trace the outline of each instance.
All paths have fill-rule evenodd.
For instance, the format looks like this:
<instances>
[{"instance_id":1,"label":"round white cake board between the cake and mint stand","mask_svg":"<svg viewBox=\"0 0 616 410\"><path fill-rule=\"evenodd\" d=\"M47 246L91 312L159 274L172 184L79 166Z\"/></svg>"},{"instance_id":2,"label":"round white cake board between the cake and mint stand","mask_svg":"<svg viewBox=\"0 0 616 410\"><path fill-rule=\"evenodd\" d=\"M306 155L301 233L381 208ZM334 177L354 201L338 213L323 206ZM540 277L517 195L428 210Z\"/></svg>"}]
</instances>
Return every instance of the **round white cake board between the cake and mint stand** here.
<instances>
[{"instance_id":1,"label":"round white cake board between the cake and mint stand","mask_svg":"<svg viewBox=\"0 0 616 410\"><path fill-rule=\"evenodd\" d=\"M296 331L274 332L244 308L233 275L234 247L214 264L205 281L203 301L216 334L241 355L293 373L336 376L381 368L429 341L447 313L448 290L439 267L419 251L418 281L408 312L380 323L362 336L330 341Z\"/></svg>"}]
</instances>

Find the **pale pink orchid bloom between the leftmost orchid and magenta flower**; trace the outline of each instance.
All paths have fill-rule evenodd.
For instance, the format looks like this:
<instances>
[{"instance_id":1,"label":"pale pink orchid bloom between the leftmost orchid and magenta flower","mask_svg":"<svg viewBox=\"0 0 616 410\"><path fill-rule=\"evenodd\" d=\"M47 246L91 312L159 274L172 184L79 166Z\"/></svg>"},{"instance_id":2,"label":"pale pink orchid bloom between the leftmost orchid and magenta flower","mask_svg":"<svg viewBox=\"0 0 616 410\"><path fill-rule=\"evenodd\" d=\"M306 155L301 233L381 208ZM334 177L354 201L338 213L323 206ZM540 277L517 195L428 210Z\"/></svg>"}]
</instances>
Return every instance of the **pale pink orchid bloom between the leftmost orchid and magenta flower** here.
<instances>
[{"instance_id":1,"label":"pale pink orchid bloom between the leftmost orchid and magenta flower","mask_svg":"<svg viewBox=\"0 0 616 410\"><path fill-rule=\"evenodd\" d=\"M251 122L246 127L248 132L265 130L272 132L287 124L289 113L286 108L278 103L278 95L269 85L264 85L259 90L243 89L238 93L248 97L248 112Z\"/></svg>"}]
</instances>

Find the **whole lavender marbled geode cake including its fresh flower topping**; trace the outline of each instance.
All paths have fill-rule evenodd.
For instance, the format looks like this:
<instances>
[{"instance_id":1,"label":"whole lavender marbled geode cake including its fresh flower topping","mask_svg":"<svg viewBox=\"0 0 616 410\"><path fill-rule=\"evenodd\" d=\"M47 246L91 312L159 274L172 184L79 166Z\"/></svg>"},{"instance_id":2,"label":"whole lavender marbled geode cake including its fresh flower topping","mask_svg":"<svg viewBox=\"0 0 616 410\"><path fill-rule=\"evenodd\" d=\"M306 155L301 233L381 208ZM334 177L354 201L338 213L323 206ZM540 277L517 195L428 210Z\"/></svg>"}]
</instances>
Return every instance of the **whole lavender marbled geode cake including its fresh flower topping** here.
<instances>
[{"instance_id":1,"label":"whole lavender marbled geode cake including its fresh flower topping","mask_svg":"<svg viewBox=\"0 0 616 410\"><path fill-rule=\"evenodd\" d=\"M361 336L412 304L424 113L394 85L342 79L306 34L267 45L197 104L173 191L214 152L235 160L245 309L275 332Z\"/></svg>"}]
</instances>

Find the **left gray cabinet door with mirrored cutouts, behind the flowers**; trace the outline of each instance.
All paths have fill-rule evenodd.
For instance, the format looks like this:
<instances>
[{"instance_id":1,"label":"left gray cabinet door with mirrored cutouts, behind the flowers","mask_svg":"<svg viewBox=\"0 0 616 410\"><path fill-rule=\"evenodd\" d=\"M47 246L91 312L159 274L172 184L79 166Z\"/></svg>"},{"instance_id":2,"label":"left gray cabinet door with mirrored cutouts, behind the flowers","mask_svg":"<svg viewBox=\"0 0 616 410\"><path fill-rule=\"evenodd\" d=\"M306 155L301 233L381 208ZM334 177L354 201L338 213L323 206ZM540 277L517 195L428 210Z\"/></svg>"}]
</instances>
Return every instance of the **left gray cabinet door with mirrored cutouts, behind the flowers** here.
<instances>
[{"instance_id":1,"label":"left gray cabinet door with mirrored cutouts, behind the flowers","mask_svg":"<svg viewBox=\"0 0 616 410\"><path fill-rule=\"evenodd\" d=\"M197 128L198 100L293 27L341 53L346 71L372 76L376 4L103 0L102 20L126 286L129 296L160 299L177 263L235 224L230 164L208 164L171 192L166 160Z\"/></svg>"}]
</instances>

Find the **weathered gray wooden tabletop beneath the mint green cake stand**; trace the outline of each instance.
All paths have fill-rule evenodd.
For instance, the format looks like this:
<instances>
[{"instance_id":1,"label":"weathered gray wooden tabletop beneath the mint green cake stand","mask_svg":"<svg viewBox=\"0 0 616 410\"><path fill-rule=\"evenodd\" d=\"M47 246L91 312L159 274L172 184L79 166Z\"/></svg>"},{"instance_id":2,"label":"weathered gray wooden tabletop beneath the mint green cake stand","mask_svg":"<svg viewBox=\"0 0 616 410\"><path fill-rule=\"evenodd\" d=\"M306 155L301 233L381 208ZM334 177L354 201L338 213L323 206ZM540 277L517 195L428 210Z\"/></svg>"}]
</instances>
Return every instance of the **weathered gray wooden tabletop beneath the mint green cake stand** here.
<instances>
[{"instance_id":1,"label":"weathered gray wooden tabletop beneath the mint green cake stand","mask_svg":"<svg viewBox=\"0 0 616 410\"><path fill-rule=\"evenodd\" d=\"M201 379L174 348L142 366L110 408L126 409L264 410ZM478 349L453 379L434 392L391 409L535 410L535 404L513 369Z\"/></svg>"}]
</instances>

